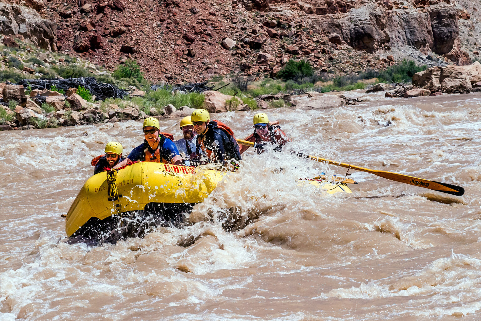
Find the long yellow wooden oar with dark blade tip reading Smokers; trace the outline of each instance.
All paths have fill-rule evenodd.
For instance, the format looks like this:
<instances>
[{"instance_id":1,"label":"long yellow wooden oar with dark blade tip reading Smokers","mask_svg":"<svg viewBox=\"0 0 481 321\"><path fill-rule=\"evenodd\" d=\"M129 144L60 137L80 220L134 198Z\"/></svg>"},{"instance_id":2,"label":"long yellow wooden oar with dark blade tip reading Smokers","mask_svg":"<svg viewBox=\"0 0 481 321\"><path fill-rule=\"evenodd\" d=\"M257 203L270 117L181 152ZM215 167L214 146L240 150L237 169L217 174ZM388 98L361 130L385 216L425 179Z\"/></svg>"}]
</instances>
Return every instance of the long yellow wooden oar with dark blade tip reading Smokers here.
<instances>
[{"instance_id":1,"label":"long yellow wooden oar with dark blade tip reading Smokers","mask_svg":"<svg viewBox=\"0 0 481 321\"><path fill-rule=\"evenodd\" d=\"M237 141L240 144L245 145L245 146L254 147L254 144L255 144L251 141L244 141L244 140L240 140L240 139L238 139ZM464 194L464 188L462 188L461 186L451 185L451 184L447 184L447 183L441 183L441 182L437 182L437 181L434 181L434 180L420 179L420 178L417 178L417 177L414 177L414 176L392 173L392 172L388 172L388 171L385 171L385 170L369 169L369 168L365 168L365 167L354 166L354 165L345 164L345 163L341 163L341 162L335 162L335 161L332 161L332 160L329 160L329 159L324 159L324 158L311 156L311 155L298 154L298 156L309 158L309 159L315 160L316 162L328 163L328 164L331 164L331 165L336 165L336 166L345 167L345 168L352 168L352 169L355 169L355 170L359 170L361 172L371 173L371 174L377 175L379 177L382 177L382 178L385 178L385 179L388 179L388 180L394 180L394 181L398 181L398 182L409 184L409 185L424 187L424 188L434 190L434 191L438 191L438 192L442 192L442 193L448 193L448 194L452 194L452 195L456 195L456 196L461 196L461 195Z\"/></svg>"}]
</instances>

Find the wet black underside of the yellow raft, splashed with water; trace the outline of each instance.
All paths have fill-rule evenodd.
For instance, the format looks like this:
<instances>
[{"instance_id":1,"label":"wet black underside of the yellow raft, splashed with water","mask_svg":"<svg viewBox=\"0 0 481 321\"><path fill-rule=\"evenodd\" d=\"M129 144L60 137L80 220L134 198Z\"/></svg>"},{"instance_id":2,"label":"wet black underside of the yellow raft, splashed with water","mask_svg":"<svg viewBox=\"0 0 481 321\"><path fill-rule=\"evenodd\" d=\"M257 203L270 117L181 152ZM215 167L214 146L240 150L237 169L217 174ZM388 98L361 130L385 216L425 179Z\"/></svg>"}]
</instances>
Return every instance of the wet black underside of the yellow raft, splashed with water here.
<instances>
[{"instance_id":1,"label":"wet black underside of the yellow raft, splashed with water","mask_svg":"<svg viewBox=\"0 0 481 321\"><path fill-rule=\"evenodd\" d=\"M122 216L89 218L72 236L68 244L116 243L127 237L143 238L158 226L181 227L186 225L185 216L196 203L149 203L143 210L125 212Z\"/></svg>"}]
</instances>

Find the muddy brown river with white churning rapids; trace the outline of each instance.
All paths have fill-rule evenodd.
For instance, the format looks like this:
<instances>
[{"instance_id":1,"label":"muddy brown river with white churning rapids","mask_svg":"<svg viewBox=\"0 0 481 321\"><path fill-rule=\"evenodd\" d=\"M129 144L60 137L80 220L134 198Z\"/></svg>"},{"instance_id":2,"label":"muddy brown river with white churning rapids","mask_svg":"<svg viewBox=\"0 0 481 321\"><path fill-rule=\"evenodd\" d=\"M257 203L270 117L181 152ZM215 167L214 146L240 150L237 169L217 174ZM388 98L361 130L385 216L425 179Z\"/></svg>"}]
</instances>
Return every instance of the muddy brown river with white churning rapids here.
<instances>
[{"instance_id":1,"label":"muddy brown river with white churning rapids","mask_svg":"<svg viewBox=\"0 0 481 321\"><path fill-rule=\"evenodd\" d=\"M481 320L481 94L364 98L266 112L290 149L466 193L350 170L353 193L327 194L296 179L345 168L248 151L194 207L196 224L67 244L61 215L91 159L111 140L128 154L143 140L141 122L0 132L0 320ZM244 138L254 114L215 118ZM161 129L179 139L178 121ZM234 206L260 216L224 231Z\"/></svg>"}]
</instances>

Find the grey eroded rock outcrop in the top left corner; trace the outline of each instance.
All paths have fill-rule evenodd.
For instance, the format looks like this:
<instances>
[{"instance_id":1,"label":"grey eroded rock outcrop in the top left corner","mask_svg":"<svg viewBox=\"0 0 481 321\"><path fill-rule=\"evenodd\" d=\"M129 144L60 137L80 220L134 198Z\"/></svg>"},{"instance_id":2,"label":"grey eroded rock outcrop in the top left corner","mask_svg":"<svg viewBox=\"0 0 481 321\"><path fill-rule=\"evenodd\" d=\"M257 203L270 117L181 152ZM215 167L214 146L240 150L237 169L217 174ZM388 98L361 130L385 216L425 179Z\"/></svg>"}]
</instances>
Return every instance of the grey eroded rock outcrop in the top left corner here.
<instances>
[{"instance_id":1,"label":"grey eroded rock outcrop in the top left corner","mask_svg":"<svg viewBox=\"0 0 481 321\"><path fill-rule=\"evenodd\" d=\"M0 2L0 33L22 35L34 45L48 51L56 51L57 27L43 19L35 10L16 4Z\"/></svg>"}]
</instances>

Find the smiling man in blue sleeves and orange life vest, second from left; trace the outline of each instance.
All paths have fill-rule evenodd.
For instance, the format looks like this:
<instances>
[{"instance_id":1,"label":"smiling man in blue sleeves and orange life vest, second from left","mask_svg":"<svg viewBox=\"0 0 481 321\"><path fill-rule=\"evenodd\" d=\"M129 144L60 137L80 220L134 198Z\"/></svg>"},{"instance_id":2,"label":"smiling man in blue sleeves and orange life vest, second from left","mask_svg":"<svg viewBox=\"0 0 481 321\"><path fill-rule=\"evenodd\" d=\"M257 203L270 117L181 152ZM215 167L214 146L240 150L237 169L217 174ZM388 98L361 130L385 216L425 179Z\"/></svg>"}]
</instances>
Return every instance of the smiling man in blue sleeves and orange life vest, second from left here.
<instances>
[{"instance_id":1,"label":"smiling man in blue sleeves and orange life vest, second from left","mask_svg":"<svg viewBox=\"0 0 481 321\"><path fill-rule=\"evenodd\" d=\"M156 162L174 165L182 165L176 145L171 137L160 133L159 121L154 117L145 118L142 130L144 142L134 148L128 157L114 168L126 166L129 162Z\"/></svg>"}]
</instances>

